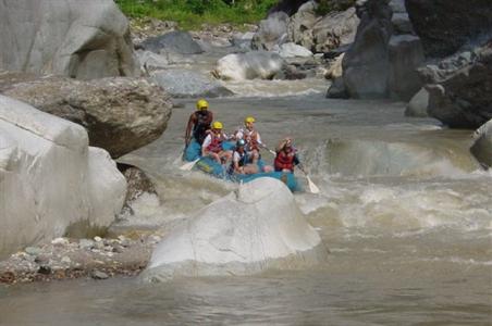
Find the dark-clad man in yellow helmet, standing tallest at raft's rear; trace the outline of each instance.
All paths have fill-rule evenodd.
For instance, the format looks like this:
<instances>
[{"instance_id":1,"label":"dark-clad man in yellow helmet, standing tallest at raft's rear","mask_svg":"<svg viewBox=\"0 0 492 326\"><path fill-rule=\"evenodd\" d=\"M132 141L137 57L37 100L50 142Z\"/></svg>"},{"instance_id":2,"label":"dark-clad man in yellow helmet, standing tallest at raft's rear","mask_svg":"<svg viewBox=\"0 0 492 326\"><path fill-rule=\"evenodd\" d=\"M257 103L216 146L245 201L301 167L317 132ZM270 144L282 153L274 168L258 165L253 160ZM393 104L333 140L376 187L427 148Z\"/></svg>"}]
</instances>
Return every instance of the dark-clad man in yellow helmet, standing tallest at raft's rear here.
<instances>
[{"instance_id":1,"label":"dark-clad man in yellow helmet, standing tallest at raft's rear","mask_svg":"<svg viewBox=\"0 0 492 326\"><path fill-rule=\"evenodd\" d=\"M189 115L188 124L186 126L186 147L188 147L192 141L192 137L195 138L199 145L202 145L208 131L210 130L210 124L213 121L213 113L208 110L208 102L206 100L198 100L196 102L196 109L197 111Z\"/></svg>"}]
</instances>

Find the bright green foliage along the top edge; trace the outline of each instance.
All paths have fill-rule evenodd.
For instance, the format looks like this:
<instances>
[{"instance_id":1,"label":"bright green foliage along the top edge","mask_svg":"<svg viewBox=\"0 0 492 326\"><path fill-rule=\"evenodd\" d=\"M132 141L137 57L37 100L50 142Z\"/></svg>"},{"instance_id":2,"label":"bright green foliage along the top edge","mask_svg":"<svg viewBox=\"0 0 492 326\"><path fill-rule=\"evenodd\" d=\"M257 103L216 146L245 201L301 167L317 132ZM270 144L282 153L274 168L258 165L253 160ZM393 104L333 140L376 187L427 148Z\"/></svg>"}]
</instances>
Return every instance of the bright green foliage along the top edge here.
<instances>
[{"instance_id":1,"label":"bright green foliage along the top edge","mask_svg":"<svg viewBox=\"0 0 492 326\"><path fill-rule=\"evenodd\" d=\"M257 23L267 16L278 0L115 0L131 17L175 21L181 28L196 29L201 24Z\"/></svg>"}]
</instances>

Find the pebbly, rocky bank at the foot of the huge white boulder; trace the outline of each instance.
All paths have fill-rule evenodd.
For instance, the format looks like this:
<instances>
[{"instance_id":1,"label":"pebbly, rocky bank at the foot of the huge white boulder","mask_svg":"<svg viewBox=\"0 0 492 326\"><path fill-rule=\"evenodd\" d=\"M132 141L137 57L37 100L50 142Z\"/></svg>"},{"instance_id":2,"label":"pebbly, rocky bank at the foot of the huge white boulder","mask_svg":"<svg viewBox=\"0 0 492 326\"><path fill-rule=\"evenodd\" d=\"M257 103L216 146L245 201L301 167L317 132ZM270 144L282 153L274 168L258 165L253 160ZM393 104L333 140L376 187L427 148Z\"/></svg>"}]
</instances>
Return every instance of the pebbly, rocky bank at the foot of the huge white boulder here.
<instances>
[{"instance_id":1,"label":"pebbly, rocky bank at the foot of the huge white boulder","mask_svg":"<svg viewBox=\"0 0 492 326\"><path fill-rule=\"evenodd\" d=\"M134 276L147 266L160 240L157 234L113 239L57 238L44 246L27 247L0 262L0 284Z\"/></svg>"}]
</instances>

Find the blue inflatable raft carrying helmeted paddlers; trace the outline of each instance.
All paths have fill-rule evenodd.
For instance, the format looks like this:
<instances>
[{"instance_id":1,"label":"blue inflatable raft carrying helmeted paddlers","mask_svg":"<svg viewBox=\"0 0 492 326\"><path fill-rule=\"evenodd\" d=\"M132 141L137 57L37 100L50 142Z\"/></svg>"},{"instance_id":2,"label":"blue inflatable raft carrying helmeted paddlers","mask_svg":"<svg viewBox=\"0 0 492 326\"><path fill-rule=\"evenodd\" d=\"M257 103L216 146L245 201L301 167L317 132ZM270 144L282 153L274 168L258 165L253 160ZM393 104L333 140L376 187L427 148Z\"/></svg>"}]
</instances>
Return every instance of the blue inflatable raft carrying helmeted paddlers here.
<instances>
[{"instance_id":1,"label":"blue inflatable raft carrying helmeted paddlers","mask_svg":"<svg viewBox=\"0 0 492 326\"><path fill-rule=\"evenodd\" d=\"M234 142L224 142L222 145L224 150L233 150ZM200 158L201 147L198 142L193 140L189 146L186 148L184 152L185 161L192 162ZM261 168L265 166L265 162L262 160L258 161L258 167ZM195 168L198 168L213 177L230 180L233 183L249 183L254 179L261 177L271 177L283 181L291 191L300 191L300 186L297 181L297 178L293 173L284 173L284 172L268 172L268 173L256 173L256 174L229 174L227 166L223 166L211 158L201 158L196 164Z\"/></svg>"}]
</instances>

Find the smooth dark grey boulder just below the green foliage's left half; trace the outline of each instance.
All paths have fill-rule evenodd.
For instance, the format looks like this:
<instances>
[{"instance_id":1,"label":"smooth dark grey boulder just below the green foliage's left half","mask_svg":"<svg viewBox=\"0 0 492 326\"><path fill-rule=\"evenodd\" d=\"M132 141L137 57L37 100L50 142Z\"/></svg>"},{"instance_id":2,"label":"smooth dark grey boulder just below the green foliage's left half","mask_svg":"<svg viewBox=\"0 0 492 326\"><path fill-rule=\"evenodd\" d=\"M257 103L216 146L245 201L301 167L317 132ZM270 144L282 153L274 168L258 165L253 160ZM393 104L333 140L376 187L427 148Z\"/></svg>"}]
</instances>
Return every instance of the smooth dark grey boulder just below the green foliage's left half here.
<instances>
[{"instance_id":1,"label":"smooth dark grey boulder just below the green foliage's left half","mask_svg":"<svg viewBox=\"0 0 492 326\"><path fill-rule=\"evenodd\" d=\"M161 36L149 37L138 47L155 53L199 54L204 52L204 49L193 39L192 35L183 30L173 30Z\"/></svg>"}]
</instances>

